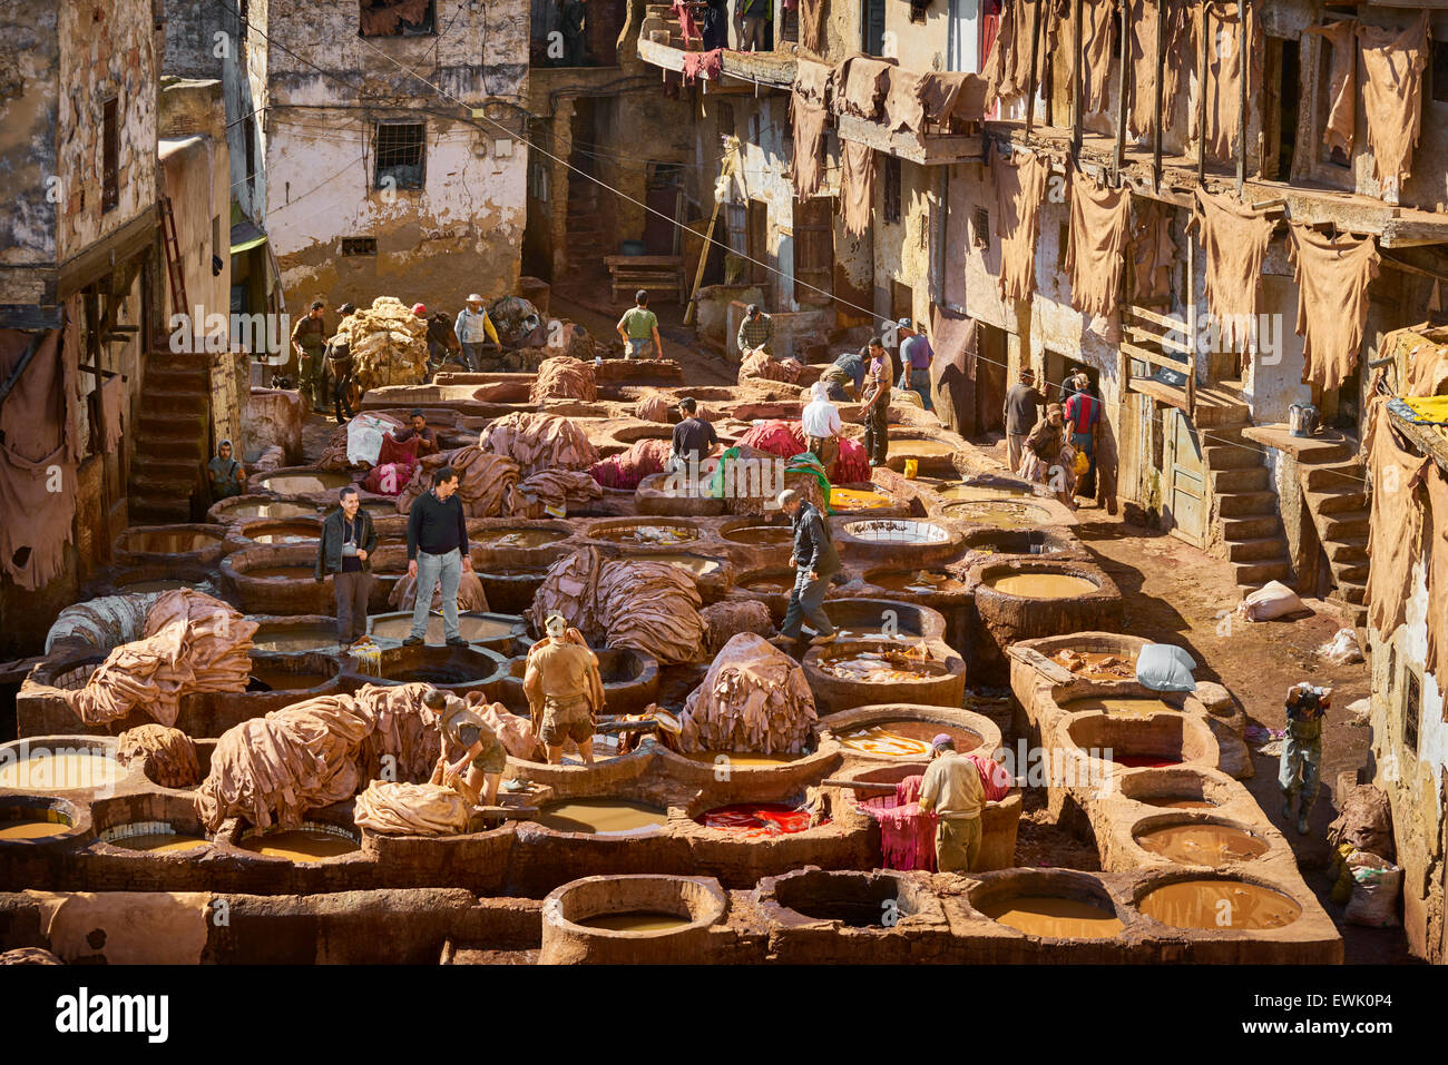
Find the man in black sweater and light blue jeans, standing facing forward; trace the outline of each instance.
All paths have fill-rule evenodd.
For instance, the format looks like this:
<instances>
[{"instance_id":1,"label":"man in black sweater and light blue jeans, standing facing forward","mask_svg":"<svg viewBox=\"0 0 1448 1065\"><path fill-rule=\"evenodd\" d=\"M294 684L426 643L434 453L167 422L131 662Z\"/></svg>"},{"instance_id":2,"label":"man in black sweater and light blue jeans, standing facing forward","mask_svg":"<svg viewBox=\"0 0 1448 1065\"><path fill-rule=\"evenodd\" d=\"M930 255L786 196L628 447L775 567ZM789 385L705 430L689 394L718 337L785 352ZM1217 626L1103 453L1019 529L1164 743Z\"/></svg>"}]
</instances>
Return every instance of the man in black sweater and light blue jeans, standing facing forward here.
<instances>
[{"instance_id":1,"label":"man in black sweater and light blue jeans, standing facing forward","mask_svg":"<svg viewBox=\"0 0 1448 1065\"><path fill-rule=\"evenodd\" d=\"M458 583L463 570L472 572L468 557L468 518L458 498L458 470L443 466L433 475L433 486L413 501L407 514L407 573L417 579L413 605L413 631L405 647L423 642L433 589L442 585L443 634L450 647L466 647L458 627Z\"/></svg>"}]
</instances>

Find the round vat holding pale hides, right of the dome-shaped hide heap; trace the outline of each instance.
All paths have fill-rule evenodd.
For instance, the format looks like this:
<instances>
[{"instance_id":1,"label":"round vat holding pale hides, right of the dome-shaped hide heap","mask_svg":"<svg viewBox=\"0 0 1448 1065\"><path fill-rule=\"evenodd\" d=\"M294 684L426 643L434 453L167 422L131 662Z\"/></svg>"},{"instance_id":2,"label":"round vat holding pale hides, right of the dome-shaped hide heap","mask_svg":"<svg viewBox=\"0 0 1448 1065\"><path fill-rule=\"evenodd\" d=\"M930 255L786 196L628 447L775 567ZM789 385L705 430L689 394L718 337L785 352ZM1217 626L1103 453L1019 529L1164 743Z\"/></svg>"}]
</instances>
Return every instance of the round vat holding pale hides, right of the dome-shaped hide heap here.
<instances>
[{"instance_id":1,"label":"round vat holding pale hides, right of the dome-shaped hide heap","mask_svg":"<svg viewBox=\"0 0 1448 1065\"><path fill-rule=\"evenodd\" d=\"M966 663L941 642L891 647L870 640L835 641L805 654L804 670L825 712L892 696L924 706L960 706L966 693Z\"/></svg>"}]
</instances>

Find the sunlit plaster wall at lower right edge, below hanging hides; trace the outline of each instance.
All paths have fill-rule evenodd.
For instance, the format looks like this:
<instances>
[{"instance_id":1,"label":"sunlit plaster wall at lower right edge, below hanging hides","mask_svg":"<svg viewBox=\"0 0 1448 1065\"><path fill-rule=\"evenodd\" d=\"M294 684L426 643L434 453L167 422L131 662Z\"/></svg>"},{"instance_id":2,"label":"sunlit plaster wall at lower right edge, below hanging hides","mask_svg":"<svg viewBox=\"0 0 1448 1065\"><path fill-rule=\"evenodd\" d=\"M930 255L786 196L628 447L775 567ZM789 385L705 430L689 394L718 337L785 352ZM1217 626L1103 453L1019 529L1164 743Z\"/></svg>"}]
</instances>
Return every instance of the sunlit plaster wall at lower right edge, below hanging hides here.
<instances>
[{"instance_id":1,"label":"sunlit plaster wall at lower right edge, below hanging hides","mask_svg":"<svg viewBox=\"0 0 1448 1065\"><path fill-rule=\"evenodd\" d=\"M1387 676L1392 657L1381 634L1373 632L1373 783L1393 807L1397 864L1403 870L1403 929L1413 954L1445 961L1444 943L1444 767L1448 765L1448 722L1438 679L1425 670L1428 654L1428 585L1422 564L1413 567L1407 621L1393 640L1399 676ZM1403 670L1422 673L1418 751L1403 742ZM1392 692L1390 689L1392 680Z\"/></svg>"}]
</instances>

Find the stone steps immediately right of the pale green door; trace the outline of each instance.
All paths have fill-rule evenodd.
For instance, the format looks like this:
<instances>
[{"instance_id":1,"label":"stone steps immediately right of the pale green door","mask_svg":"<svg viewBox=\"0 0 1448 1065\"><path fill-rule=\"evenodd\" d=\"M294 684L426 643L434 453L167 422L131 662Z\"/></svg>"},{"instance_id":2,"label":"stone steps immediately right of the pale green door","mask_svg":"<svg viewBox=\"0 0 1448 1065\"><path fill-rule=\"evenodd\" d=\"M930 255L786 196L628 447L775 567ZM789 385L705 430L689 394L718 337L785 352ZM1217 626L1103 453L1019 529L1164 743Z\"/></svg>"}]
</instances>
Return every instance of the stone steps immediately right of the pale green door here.
<instances>
[{"instance_id":1,"label":"stone steps immediately right of the pale green door","mask_svg":"<svg viewBox=\"0 0 1448 1065\"><path fill-rule=\"evenodd\" d=\"M1268 580L1292 580L1277 493L1261 450L1242 437L1247 427L1245 421L1212 425L1202 446L1218 525L1212 546L1232 564L1244 593Z\"/></svg>"}]
</instances>

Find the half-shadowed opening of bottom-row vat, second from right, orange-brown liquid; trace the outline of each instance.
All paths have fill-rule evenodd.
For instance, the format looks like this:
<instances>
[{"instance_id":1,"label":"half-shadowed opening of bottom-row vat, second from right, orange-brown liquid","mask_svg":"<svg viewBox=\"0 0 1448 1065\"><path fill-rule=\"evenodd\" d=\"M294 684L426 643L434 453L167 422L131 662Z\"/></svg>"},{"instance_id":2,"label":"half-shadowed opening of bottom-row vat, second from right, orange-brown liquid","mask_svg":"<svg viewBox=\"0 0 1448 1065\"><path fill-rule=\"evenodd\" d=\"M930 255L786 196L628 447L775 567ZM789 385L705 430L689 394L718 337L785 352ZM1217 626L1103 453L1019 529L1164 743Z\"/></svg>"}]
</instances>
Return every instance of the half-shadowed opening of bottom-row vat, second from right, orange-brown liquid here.
<instances>
[{"instance_id":1,"label":"half-shadowed opening of bottom-row vat, second from right, orange-brown liquid","mask_svg":"<svg viewBox=\"0 0 1448 1065\"><path fill-rule=\"evenodd\" d=\"M1072 873L993 877L972 891L970 906L1038 939L1111 939L1125 928L1100 883Z\"/></svg>"}]
</instances>

